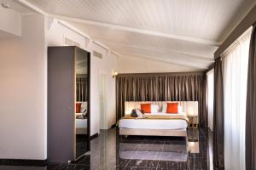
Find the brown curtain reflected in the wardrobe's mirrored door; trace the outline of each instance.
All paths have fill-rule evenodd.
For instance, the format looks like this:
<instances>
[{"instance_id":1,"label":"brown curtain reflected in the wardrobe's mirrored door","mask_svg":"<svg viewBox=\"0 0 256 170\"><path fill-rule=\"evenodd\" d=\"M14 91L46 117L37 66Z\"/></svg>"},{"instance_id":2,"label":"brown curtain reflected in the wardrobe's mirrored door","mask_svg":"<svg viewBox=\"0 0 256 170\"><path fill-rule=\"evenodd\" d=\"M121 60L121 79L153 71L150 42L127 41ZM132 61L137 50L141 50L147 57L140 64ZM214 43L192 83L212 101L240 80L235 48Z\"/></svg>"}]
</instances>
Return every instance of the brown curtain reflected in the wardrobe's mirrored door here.
<instances>
[{"instance_id":1,"label":"brown curtain reflected in the wardrobe's mirrored door","mask_svg":"<svg viewBox=\"0 0 256 170\"><path fill-rule=\"evenodd\" d=\"M88 101L88 77L76 77L76 94L77 101Z\"/></svg>"}]
</instances>

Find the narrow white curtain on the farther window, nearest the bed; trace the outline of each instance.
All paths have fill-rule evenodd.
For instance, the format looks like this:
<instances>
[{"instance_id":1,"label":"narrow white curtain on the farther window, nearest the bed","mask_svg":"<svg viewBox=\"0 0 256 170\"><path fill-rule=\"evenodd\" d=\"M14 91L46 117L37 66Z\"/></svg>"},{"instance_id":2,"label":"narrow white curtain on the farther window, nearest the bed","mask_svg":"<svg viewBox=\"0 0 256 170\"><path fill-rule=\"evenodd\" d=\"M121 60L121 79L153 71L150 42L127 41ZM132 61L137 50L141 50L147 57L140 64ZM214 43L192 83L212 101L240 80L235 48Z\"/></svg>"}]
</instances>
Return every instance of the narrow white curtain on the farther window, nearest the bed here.
<instances>
[{"instance_id":1,"label":"narrow white curtain on the farther window, nearest the bed","mask_svg":"<svg viewBox=\"0 0 256 170\"><path fill-rule=\"evenodd\" d=\"M208 127L213 130L213 91L214 91L214 69L207 72L207 109Z\"/></svg>"}]
</instances>

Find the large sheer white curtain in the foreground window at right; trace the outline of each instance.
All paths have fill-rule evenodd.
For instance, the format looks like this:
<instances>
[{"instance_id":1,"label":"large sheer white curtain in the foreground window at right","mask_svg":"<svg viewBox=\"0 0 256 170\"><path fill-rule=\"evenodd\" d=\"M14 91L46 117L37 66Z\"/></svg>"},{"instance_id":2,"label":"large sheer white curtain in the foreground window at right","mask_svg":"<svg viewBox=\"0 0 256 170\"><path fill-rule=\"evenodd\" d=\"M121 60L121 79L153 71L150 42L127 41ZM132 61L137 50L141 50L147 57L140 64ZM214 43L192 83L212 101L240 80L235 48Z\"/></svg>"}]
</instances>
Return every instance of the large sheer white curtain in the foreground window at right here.
<instances>
[{"instance_id":1,"label":"large sheer white curtain in the foreground window at right","mask_svg":"<svg viewBox=\"0 0 256 170\"><path fill-rule=\"evenodd\" d=\"M223 55L224 61L224 165L245 169L245 117L247 65L252 29Z\"/></svg>"}]
</instances>

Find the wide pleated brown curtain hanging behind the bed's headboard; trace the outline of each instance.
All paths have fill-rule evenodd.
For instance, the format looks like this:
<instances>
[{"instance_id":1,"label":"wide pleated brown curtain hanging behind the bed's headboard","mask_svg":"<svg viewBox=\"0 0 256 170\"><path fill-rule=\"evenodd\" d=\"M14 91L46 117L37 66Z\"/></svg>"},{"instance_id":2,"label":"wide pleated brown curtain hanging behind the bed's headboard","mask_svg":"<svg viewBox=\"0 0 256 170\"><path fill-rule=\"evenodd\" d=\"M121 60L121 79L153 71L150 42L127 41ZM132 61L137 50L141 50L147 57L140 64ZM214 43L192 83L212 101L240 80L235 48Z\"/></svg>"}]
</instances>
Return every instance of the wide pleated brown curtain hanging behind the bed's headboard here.
<instances>
[{"instance_id":1,"label":"wide pleated brown curtain hanging behind the bed's headboard","mask_svg":"<svg viewBox=\"0 0 256 170\"><path fill-rule=\"evenodd\" d=\"M117 121L125 114L125 101L198 101L199 123L207 127L206 75L119 75L116 79Z\"/></svg>"}]
</instances>

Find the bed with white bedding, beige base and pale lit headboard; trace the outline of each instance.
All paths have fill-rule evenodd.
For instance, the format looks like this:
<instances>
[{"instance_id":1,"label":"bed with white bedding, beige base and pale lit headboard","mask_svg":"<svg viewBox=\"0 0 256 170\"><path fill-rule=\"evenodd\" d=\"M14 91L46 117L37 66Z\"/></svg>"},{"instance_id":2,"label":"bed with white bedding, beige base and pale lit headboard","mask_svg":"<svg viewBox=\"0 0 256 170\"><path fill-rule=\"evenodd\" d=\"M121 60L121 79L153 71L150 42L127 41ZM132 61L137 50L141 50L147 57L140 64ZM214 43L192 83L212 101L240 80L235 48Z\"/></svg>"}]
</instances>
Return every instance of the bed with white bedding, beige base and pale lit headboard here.
<instances>
[{"instance_id":1,"label":"bed with white bedding, beige base and pale lit headboard","mask_svg":"<svg viewBox=\"0 0 256 170\"><path fill-rule=\"evenodd\" d=\"M166 114L163 112L145 114L143 118L131 118L131 110L142 103L159 105L162 110L165 102L125 102L125 116L119 120L119 135L147 135L147 136L181 136L187 137L189 120L187 115L198 114L197 101L177 101L181 106L181 113Z\"/></svg>"}]
</instances>

